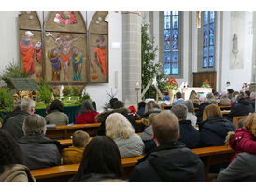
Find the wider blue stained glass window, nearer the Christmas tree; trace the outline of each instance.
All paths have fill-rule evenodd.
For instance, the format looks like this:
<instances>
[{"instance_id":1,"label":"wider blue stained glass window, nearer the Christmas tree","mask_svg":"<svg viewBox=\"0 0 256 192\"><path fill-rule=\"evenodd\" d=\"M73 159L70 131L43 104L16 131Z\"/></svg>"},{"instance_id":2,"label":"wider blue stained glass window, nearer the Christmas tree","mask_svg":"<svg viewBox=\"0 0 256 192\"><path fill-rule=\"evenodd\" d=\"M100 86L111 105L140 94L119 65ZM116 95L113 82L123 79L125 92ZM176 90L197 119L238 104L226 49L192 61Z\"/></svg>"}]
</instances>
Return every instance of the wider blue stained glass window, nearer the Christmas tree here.
<instances>
[{"instance_id":1,"label":"wider blue stained glass window, nearer the Christmas tree","mask_svg":"<svg viewBox=\"0 0 256 192\"><path fill-rule=\"evenodd\" d=\"M178 11L164 11L164 74L179 72L179 15Z\"/></svg>"}]
</instances>

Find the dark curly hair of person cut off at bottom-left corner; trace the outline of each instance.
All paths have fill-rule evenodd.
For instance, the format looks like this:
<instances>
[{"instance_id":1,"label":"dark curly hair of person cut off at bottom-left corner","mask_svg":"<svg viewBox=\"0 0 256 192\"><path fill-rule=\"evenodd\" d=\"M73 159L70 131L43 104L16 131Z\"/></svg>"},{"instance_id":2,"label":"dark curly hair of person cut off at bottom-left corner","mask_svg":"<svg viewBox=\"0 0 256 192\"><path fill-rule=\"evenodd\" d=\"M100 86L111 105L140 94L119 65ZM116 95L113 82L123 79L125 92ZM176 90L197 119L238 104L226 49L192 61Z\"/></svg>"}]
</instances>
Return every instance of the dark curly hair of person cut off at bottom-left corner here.
<instances>
[{"instance_id":1,"label":"dark curly hair of person cut off at bottom-left corner","mask_svg":"<svg viewBox=\"0 0 256 192\"><path fill-rule=\"evenodd\" d=\"M0 174L5 165L22 164L24 158L16 141L4 130L0 130Z\"/></svg>"}]
</instances>

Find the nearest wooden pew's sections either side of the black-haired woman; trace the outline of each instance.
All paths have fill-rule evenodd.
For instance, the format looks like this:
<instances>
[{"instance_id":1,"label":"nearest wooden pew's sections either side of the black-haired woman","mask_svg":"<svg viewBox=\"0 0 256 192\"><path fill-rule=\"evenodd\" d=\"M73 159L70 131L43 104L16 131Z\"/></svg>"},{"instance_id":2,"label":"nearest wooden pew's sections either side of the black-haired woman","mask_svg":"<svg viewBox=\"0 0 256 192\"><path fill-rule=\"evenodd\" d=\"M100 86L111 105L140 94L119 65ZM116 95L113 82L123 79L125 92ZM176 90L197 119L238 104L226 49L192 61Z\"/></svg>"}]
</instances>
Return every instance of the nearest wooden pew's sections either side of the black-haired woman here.
<instances>
[{"instance_id":1,"label":"nearest wooden pew's sections either side of the black-haired woman","mask_svg":"<svg viewBox=\"0 0 256 192\"><path fill-rule=\"evenodd\" d=\"M135 164L141 158L143 158L143 156L121 159L121 164L124 169L123 179L127 179L129 177L132 169L135 167ZM79 168L79 163L71 164L71 165L54 166L54 167L43 168L38 170L31 170L30 172L38 182L43 182L43 181L60 182L60 181L68 181L74 174L77 173L78 168Z\"/></svg>"}]
</instances>

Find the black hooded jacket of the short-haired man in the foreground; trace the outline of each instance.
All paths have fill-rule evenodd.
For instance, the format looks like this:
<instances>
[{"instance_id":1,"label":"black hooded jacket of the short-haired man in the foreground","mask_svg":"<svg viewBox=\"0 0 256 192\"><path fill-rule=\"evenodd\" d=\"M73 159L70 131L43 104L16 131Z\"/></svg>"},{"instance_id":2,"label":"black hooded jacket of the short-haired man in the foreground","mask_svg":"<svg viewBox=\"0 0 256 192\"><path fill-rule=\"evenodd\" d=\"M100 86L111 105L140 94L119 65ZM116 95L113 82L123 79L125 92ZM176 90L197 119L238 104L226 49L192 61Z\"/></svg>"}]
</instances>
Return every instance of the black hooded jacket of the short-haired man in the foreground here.
<instances>
[{"instance_id":1,"label":"black hooded jacket of the short-haired man in the foreground","mask_svg":"<svg viewBox=\"0 0 256 192\"><path fill-rule=\"evenodd\" d=\"M163 144L138 161L131 182L205 181L204 164L180 142Z\"/></svg>"}]
</instances>

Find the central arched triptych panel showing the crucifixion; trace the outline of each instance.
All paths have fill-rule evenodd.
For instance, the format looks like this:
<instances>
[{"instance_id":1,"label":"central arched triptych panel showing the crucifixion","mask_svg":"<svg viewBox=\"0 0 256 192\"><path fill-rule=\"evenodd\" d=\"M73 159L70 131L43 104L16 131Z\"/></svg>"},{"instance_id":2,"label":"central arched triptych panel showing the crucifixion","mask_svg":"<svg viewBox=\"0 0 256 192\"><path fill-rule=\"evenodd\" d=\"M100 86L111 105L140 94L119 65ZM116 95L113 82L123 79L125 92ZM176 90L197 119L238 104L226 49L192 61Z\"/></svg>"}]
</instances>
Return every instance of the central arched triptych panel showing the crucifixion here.
<instances>
[{"instance_id":1,"label":"central arched triptych panel showing the crucifixion","mask_svg":"<svg viewBox=\"0 0 256 192\"><path fill-rule=\"evenodd\" d=\"M86 39L86 26L79 12L50 12L45 32L48 82L87 81Z\"/></svg>"}]
</instances>

